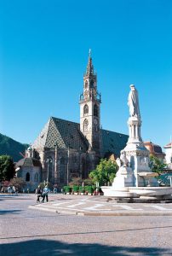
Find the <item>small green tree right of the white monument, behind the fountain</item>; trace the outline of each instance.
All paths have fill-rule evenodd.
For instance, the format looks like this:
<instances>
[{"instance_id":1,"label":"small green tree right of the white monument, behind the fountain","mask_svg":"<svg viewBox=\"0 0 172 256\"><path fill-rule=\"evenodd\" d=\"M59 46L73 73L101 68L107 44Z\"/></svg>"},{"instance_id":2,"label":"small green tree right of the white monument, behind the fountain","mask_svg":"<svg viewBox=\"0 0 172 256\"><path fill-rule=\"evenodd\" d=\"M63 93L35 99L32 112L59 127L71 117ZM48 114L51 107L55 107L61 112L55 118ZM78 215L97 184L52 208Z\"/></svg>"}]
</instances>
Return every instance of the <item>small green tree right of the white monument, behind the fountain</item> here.
<instances>
[{"instance_id":1,"label":"small green tree right of the white monument, behind the fountain","mask_svg":"<svg viewBox=\"0 0 172 256\"><path fill-rule=\"evenodd\" d=\"M160 160L158 157L150 154L150 168L152 169L152 172L157 172L158 175L160 175L166 166L167 165L163 160Z\"/></svg>"}]
</instances>

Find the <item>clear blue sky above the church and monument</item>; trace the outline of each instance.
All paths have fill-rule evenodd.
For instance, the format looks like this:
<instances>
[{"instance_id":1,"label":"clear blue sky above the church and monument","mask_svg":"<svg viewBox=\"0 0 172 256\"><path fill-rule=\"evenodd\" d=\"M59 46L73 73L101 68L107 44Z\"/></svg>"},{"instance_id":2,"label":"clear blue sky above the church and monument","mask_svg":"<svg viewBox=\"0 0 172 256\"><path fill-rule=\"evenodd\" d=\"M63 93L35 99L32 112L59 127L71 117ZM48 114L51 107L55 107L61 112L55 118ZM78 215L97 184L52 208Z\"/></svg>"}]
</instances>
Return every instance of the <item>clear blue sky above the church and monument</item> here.
<instances>
[{"instance_id":1,"label":"clear blue sky above the church and monument","mask_svg":"<svg viewBox=\"0 0 172 256\"><path fill-rule=\"evenodd\" d=\"M143 140L169 143L171 0L0 1L0 132L32 143L50 116L79 122L89 48L103 128L128 134L135 84Z\"/></svg>"}]
</instances>

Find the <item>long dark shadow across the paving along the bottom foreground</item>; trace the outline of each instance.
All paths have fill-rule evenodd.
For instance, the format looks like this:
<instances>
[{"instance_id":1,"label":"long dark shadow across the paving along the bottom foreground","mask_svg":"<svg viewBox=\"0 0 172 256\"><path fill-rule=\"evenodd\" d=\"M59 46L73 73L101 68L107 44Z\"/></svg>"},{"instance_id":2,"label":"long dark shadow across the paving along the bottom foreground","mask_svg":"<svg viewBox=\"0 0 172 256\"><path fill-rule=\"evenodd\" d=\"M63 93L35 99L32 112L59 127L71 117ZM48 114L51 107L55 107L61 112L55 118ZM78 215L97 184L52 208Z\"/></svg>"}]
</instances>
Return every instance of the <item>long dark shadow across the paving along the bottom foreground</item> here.
<instances>
[{"instance_id":1,"label":"long dark shadow across the paving along the bottom foreground","mask_svg":"<svg viewBox=\"0 0 172 256\"><path fill-rule=\"evenodd\" d=\"M55 256L55 255L171 255L170 249L157 247L116 247L99 243L66 243L52 240L20 241L0 245L5 256Z\"/></svg>"}]
</instances>

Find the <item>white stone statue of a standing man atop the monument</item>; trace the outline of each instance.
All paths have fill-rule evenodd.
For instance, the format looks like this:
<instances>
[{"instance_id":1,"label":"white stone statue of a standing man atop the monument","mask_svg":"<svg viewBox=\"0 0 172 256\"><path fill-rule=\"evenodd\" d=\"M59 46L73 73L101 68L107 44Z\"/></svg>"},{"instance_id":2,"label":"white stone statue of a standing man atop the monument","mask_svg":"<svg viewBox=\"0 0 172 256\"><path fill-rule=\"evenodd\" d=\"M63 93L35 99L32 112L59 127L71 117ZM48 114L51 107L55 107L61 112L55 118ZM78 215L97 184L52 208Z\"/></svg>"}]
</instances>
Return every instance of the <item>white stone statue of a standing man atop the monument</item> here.
<instances>
[{"instance_id":1,"label":"white stone statue of a standing man atop the monument","mask_svg":"<svg viewBox=\"0 0 172 256\"><path fill-rule=\"evenodd\" d=\"M130 91L129 91L129 99L128 99L128 105L129 105L129 113L130 116L135 116L137 118L140 118L140 109L139 109L139 97L137 90L135 89L135 85L130 85Z\"/></svg>"}]
</instances>

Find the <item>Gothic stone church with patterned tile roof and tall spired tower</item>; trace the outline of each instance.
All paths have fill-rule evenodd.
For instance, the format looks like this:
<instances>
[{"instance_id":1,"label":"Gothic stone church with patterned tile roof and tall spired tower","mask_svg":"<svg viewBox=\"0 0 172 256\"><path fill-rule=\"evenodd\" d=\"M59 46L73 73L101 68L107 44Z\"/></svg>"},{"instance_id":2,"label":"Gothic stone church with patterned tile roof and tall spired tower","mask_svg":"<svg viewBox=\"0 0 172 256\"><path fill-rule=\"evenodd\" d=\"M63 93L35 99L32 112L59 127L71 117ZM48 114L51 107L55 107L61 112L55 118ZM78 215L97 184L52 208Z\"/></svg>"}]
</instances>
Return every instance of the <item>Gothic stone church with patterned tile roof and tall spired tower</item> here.
<instances>
[{"instance_id":1,"label":"Gothic stone church with patterned tile roof and tall spired tower","mask_svg":"<svg viewBox=\"0 0 172 256\"><path fill-rule=\"evenodd\" d=\"M32 158L40 160L42 166L42 182L49 181L58 188L72 177L89 177L100 158L119 157L128 141L127 135L101 129L101 95L90 52L79 104L79 124L50 117L32 144Z\"/></svg>"}]
</instances>

